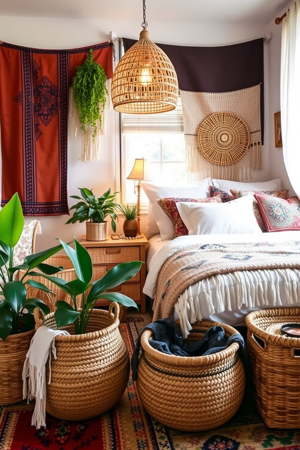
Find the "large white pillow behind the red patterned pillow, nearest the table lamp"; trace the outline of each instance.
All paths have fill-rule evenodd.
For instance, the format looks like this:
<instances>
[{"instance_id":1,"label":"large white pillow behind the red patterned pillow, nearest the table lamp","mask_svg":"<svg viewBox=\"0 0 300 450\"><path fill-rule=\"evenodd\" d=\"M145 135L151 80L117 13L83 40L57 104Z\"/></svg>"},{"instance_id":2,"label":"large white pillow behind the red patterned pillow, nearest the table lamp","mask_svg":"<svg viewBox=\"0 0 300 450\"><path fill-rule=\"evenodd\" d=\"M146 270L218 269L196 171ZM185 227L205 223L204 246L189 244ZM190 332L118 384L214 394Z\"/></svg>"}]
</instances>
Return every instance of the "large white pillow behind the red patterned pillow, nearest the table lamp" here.
<instances>
[{"instance_id":1,"label":"large white pillow behind the red patterned pillow, nearest the table lamp","mask_svg":"<svg viewBox=\"0 0 300 450\"><path fill-rule=\"evenodd\" d=\"M210 197L210 182L210 177L197 181L197 183L174 184L172 186L142 181L142 188L149 200L147 238L149 239L157 233L161 234L161 240L172 239L174 237L174 225L157 203L158 198L207 198Z\"/></svg>"}]
</instances>

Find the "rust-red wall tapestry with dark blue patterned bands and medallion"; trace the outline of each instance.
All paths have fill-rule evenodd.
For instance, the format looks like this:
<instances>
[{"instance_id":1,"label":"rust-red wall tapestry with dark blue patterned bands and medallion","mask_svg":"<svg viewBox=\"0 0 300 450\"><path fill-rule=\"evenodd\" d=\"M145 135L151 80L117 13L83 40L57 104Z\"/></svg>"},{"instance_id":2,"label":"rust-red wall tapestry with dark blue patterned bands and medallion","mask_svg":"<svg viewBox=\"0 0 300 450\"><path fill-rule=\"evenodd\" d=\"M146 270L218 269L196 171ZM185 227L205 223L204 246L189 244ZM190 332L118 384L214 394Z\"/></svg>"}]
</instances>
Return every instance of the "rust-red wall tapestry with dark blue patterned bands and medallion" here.
<instances>
[{"instance_id":1,"label":"rust-red wall tapestry with dark blue patterned bands and medallion","mask_svg":"<svg viewBox=\"0 0 300 450\"><path fill-rule=\"evenodd\" d=\"M68 214L68 91L90 48L112 78L109 42L66 50L1 42L1 206L18 192L24 216Z\"/></svg>"}]
</instances>

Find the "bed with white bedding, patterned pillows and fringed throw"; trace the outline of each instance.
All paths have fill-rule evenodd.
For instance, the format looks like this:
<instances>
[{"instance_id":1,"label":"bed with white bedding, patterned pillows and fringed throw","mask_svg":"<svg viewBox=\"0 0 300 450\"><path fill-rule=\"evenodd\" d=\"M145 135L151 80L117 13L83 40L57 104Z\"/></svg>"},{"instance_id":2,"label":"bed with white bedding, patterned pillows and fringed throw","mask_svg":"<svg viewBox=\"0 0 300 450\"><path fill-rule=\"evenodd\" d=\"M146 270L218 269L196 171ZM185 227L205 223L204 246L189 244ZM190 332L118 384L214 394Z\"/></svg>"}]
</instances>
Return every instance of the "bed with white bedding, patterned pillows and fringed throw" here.
<instances>
[{"instance_id":1,"label":"bed with white bedding, patterned pillows and fringed throw","mask_svg":"<svg viewBox=\"0 0 300 450\"><path fill-rule=\"evenodd\" d=\"M148 187L152 236L143 292L154 299L153 320L173 317L187 336L197 320L242 326L254 309L300 306L300 202L280 180ZM208 201L213 191L223 199ZM169 209L159 202L166 198ZM272 207L277 222L268 221ZM175 236L178 214L186 230Z\"/></svg>"}]
</instances>

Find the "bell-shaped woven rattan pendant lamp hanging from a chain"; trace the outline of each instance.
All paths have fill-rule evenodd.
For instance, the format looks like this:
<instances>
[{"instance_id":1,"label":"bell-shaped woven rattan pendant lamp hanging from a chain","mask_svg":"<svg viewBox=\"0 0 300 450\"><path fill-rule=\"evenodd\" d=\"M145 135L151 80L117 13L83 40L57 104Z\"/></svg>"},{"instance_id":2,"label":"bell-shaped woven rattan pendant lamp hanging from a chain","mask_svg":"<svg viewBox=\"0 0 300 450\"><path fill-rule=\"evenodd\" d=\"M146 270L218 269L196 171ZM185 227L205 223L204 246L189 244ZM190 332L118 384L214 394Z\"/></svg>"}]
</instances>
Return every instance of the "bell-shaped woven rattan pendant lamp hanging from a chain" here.
<instances>
[{"instance_id":1,"label":"bell-shaped woven rattan pendant lamp hanging from a chain","mask_svg":"<svg viewBox=\"0 0 300 450\"><path fill-rule=\"evenodd\" d=\"M145 11L143 0L139 40L126 51L112 76L112 103L118 112L152 114L176 107L179 91L175 68L150 40Z\"/></svg>"}]
</instances>

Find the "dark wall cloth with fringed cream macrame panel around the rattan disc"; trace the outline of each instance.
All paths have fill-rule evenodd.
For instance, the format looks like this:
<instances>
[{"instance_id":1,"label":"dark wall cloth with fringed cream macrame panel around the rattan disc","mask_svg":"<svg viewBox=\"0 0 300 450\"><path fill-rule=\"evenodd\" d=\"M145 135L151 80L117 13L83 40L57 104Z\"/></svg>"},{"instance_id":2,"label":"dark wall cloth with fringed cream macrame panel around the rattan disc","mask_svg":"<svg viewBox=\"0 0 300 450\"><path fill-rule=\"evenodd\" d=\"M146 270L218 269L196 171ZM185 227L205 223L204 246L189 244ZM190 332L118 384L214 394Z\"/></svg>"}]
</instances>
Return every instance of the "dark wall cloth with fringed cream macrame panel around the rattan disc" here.
<instances>
[{"instance_id":1,"label":"dark wall cloth with fringed cream macrame panel around the rattan disc","mask_svg":"<svg viewBox=\"0 0 300 450\"><path fill-rule=\"evenodd\" d=\"M136 41L123 38L125 51ZM172 61L184 114L188 171L199 180L251 177L262 168L264 144L264 43L255 39L217 47L157 44ZM221 166L205 159L197 147L198 127L215 112L232 112L250 131L250 148L236 163Z\"/></svg>"}]
</instances>

